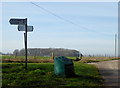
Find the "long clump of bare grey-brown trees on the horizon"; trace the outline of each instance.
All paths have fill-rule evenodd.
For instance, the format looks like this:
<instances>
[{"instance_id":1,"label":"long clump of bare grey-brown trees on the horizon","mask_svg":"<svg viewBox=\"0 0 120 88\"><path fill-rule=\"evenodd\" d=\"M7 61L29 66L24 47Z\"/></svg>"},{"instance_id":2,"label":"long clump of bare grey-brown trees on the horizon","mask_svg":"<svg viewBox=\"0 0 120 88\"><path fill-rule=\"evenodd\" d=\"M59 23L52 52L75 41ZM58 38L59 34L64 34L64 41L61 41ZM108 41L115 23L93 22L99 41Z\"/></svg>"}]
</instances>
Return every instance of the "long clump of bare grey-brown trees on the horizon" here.
<instances>
[{"instance_id":1,"label":"long clump of bare grey-brown trees on the horizon","mask_svg":"<svg viewBox=\"0 0 120 88\"><path fill-rule=\"evenodd\" d=\"M79 56L79 51L73 49L64 49L64 48L28 48L28 56L43 56L49 57L51 54L55 56L69 56L69 57L77 57ZM25 50L14 50L13 52L16 56L25 55Z\"/></svg>"}]
</instances>

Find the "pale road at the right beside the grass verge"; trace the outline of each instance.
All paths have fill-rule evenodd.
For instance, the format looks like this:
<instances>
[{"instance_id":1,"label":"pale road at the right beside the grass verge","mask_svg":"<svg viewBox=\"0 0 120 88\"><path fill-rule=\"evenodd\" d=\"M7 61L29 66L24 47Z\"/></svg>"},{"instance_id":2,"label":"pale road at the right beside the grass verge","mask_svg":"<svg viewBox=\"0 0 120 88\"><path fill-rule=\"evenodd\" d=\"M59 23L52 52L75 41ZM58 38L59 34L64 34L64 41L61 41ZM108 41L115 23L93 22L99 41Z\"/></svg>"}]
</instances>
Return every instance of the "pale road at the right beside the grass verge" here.
<instances>
[{"instance_id":1,"label":"pale road at the right beside the grass verge","mask_svg":"<svg viewBox=\"0 0 120 88\"><path fill-rule=\"evenodd\" d=\"M120 68L118 63L120 64L120 60L103 61L89 64L94 64L98 67L99 72L104 79L105 88L110 88L110 86L120 88L120 76L118 75Z\"/></svg>"}]
</instances>

